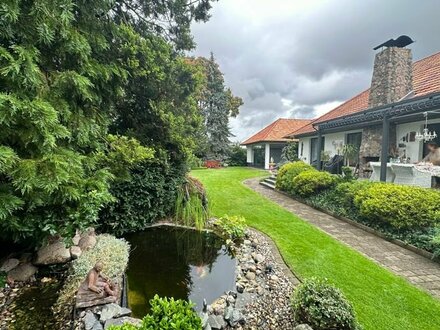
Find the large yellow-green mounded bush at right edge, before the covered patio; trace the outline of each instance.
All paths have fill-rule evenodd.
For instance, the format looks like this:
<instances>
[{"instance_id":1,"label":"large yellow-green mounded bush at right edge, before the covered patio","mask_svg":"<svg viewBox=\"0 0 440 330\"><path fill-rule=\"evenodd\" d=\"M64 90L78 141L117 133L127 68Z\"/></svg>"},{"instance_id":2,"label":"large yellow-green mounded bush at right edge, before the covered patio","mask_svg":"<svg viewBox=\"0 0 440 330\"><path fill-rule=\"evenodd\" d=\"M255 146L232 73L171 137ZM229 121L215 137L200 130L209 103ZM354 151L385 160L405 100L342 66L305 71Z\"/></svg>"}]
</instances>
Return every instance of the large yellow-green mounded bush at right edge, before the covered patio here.
<instances>
[{"instance_id":1,"label":"large yellow-green mounded bush at right edge, before the covered patio","mask_svg":"<svg viewBox=\"0 0 440 330\"><path fill-rule=\"evenodd\" d=\"M440 192L411 186L377 183L358 191L360 214L394 228L433 227L440 223Z\"/></svg>"}]
</instances>

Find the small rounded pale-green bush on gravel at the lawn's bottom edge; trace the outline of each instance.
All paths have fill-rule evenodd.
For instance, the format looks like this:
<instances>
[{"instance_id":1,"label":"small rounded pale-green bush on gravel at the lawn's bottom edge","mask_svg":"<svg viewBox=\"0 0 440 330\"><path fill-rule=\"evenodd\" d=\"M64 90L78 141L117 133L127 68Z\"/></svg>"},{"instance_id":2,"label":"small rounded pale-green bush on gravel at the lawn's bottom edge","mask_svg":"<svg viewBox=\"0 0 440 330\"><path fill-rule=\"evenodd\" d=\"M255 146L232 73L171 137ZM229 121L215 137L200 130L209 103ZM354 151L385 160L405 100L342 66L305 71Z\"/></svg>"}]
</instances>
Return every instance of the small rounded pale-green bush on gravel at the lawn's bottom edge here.
<instances>
[{"instance_id":1,"label":"small rounded pale-green bush on gravel at the lawn's bottom edge","mask_svg":"<svg viewBox=\"0 0 440 330\"><path fill-rule=\"evenodd\" d=\"M350 302L342 292L324 280L307 279L292 296L295 322L315 330L361 329Z\"/></svg>"}]
</instances>

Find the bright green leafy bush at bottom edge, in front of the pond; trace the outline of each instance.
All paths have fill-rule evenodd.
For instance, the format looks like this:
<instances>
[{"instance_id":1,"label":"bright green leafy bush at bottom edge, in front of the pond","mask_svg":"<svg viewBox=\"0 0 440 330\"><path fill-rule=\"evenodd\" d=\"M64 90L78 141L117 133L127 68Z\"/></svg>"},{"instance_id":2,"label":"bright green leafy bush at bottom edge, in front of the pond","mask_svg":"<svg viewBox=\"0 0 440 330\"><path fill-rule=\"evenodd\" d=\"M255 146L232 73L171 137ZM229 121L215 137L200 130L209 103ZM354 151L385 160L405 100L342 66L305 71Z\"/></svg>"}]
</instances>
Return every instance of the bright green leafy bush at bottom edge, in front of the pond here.
<instances>
[{"instance_id":1,"label":"bright green leafy bush at bottom edge, in front of the pond","mask_svg":"<svg viewBox=\"0 0 440 330\"><path fill-rule=\"evenodd\" d=\"M109 330L201 330L202 321L184 300L159 298L150 300L151 311L142 320L140 327L131 325L112 326Z\"/></svg>"}]
</instances>

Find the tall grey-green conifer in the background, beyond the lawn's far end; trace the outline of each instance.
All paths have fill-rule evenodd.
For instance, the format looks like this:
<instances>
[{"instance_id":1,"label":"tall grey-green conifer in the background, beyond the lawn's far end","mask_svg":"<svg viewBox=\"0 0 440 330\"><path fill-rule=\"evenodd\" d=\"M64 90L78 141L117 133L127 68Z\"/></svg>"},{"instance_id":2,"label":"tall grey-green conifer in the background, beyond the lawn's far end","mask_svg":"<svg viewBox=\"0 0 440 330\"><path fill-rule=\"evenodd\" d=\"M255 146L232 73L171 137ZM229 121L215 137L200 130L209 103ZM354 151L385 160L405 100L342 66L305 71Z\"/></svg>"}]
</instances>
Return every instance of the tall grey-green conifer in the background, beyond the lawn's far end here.
<instances>
[{"instance_id":1,"label":"tall grey-green conifer in the background, beyond the lawn's far end","mask_svg":"<svg viewBox=\"0 0 440 330\"><path fill-rule=\"evenodd\" d=\"M203 67L205 83L199 97L205 124L205 157L223 159L228 154L229 137L232 136L229 128L229 117L235 117L243 100L232 94L225 87L223 74L215 62L214 54L209 59L198 58L195 63Z\"/></svg>"}]
</instances>

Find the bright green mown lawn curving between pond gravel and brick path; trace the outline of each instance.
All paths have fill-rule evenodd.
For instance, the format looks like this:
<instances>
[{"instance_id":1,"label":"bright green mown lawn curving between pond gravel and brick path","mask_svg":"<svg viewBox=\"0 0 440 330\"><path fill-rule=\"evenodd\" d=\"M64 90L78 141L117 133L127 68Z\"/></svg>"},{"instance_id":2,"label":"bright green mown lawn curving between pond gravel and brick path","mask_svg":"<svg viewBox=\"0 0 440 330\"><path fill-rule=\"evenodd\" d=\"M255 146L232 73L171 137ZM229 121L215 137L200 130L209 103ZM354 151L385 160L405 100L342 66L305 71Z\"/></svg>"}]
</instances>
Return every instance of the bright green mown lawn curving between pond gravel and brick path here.
<instances>
[{"instance_id":1,"label":"bright green mown lawn curving between pond gravel and brick path","mask_svg":"<svg viewBox=\"0 0 440 330\"><path fill-rule=\"evenodd\" d=\"M325 277L353 303L365 329L440 329L440 301L245 187L248 168L195 170L216 216L243 215L268 234L300 277Z\"/></svg>"}]
</instances>

